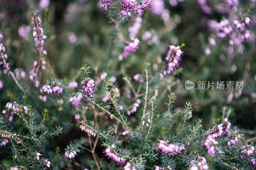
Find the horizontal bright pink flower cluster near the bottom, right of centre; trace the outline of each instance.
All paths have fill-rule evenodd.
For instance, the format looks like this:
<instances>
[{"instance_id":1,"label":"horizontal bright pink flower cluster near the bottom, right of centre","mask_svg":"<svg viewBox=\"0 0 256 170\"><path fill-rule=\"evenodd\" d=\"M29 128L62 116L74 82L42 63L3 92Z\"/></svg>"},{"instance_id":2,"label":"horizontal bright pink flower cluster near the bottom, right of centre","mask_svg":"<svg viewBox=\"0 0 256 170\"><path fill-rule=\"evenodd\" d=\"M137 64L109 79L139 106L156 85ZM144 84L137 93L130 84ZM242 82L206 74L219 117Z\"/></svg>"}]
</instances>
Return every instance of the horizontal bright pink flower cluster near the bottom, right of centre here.
<instances>
[{"instance_id":1,"label":"horizontal bright pink flower cluster near the bottom, right of centre","mask_svg":"<svg viewBox=\"0 0 256 170\"><path fill-rule=\"evenodd\" d=\"M173 155L177 155L178 153L181 153L182 150L185 150L184 145L173 145L173 144L169 144L169 141L167 140L166 142L164 140L159 140L158 146L157 148L163 152L168 154L169 156L173 156Z\"/></svg>"}]
</instances>

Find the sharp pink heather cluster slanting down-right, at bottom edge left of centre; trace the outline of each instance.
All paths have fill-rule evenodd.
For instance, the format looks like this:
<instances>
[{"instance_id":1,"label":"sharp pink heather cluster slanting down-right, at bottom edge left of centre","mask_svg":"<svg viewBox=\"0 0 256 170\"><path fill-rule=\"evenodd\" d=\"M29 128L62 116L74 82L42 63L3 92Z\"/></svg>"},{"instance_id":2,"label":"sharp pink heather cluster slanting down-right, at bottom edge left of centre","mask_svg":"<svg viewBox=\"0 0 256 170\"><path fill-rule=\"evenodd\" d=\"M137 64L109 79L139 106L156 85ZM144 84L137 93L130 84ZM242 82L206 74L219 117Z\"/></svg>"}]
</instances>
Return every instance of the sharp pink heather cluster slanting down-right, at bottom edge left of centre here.
<instances>
[{"instance_id":1,"label":"sharp pink heather cluster slanting down-right, at bottom edge left of centre","mask_svg":"<svg viewBox=\"0 0 256 170\"><path fill-rule=\"evenodd\" d=\"M117 165L120 165L125 162L126 159L120 157L120 155L115 151L115 144L108 146L107 149L103 151L106 153L105 155L108 156L108 159L113 160Z\"/></svg>"}]
</instances>

